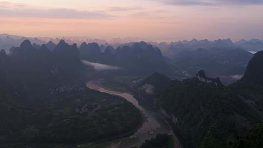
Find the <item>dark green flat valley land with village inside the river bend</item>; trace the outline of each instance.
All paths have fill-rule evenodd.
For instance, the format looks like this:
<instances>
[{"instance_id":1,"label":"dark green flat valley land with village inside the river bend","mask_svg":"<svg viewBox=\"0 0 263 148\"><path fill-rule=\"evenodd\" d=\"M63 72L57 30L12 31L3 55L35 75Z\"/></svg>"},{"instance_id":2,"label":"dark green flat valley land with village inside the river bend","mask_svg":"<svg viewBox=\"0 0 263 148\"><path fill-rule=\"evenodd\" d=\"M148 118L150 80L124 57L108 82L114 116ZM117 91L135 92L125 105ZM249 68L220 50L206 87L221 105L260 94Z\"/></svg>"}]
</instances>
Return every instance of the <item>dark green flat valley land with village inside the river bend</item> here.
<instances>
[{"instance_id":1,"label":"dark green flat valley land with village inside the river bend","mask_svg":"<svg viewBox=\"0 0 263 148\"><path fill-rule=\"evenodd\" d=\"M55 93L50 97L41 106L26 107L27 114L20 109L7 110L10 115L21 114L18 119L16 116L7 118L9 116L6 115L10 120L1 122L4 128L0 133L5 137L0 139L2 144L96 142L132 134L130 131L142 122L138 118L140 111L130 102L109 94L83 88L70 93ZM5 107L7 103L2 102L1 106ZM18 121L20 126L18 123L10 124Z\"/></svg>"}]
</instances>

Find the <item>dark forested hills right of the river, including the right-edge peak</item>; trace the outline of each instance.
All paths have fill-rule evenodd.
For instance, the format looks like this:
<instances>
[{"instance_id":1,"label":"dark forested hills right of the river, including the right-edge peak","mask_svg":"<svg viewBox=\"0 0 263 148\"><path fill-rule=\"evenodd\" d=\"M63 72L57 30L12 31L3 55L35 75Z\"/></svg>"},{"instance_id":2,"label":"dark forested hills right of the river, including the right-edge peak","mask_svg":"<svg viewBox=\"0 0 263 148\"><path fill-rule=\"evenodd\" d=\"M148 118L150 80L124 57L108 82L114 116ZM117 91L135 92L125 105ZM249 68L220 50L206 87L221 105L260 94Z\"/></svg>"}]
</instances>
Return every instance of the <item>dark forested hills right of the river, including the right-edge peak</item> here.
<instances>
[{"instance_id":1,"label":"dark forested hills right of the river, including the right-edge peak","mask_svg":"<svg viewBox=\"0 0 263 148\"><path fill-rule=\"evenodd\" d=\"M244 77L230 86L201 70L182 81L155 73L134 92L168 116L185 148L261 148L263 127L256 124L263 121L262 59L257 53ZM149 86L154 93L148 93Z\"/></svg>"}]
</instances>

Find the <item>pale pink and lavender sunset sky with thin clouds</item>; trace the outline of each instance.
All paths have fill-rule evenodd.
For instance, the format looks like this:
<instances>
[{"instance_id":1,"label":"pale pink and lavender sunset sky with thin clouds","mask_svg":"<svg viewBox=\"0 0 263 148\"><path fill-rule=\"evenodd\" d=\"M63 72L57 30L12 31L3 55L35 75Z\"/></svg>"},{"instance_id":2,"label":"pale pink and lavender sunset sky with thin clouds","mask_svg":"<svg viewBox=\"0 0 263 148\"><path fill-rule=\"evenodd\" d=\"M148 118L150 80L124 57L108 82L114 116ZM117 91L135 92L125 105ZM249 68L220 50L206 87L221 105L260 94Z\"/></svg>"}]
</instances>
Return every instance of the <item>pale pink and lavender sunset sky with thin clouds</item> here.
<instances>
[{"instance_id":1,"label":"pale pink and lavender sunset sky with thin clouds","mask_svg":"<svg viewBox=\"0 0 263 148\"><path fill-rule=\"evenodd\" d=\"M0 0L0 33L152 41L263 39L263 0Z\"/></svg>"}]
</instances>

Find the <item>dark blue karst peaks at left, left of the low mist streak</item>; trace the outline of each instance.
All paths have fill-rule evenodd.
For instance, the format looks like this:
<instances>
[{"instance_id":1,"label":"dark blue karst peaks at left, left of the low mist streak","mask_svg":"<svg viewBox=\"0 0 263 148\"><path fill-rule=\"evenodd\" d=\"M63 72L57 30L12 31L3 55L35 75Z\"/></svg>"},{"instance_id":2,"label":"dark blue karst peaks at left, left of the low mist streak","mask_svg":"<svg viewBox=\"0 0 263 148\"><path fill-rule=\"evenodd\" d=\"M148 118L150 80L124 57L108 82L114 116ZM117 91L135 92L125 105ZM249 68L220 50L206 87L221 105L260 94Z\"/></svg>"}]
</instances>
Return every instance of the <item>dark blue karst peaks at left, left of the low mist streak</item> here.
<instances>
[{"instance_id":1,"label":"dark blue karst peaks at left, left of the low mist streak","mask_svg":"<svg viewBox=\"0 0 263 148\"><path fill-rule=\"evenodd\" d=\"M24 40L14 48L4 66L8 77L17 79L30 93L38 93L39 88L43 89L41 92L48 91L53 84L66 84L83 76L76 44L68 45L63 40L54 51L50 51L45 44L36 49L29 40ZM39 87L33 87L39 83Z\"/></svg>"}]
</instances>

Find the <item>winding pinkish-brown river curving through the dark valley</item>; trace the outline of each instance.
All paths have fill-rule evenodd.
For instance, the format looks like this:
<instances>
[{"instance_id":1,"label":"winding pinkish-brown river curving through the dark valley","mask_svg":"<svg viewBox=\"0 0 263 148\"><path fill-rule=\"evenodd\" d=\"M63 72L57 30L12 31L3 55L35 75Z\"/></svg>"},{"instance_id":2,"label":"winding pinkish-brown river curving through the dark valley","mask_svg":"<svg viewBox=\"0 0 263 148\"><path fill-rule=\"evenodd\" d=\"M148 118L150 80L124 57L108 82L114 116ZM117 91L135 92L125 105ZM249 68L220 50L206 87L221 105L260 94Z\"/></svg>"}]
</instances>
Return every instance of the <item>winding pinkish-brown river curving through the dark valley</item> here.
<instances>
[{"instance_id":1,"label":"winding pinkish-brown river curving through the dark valley","mask_svg":"<svg viewBox=\"0 0 263 148\"><path fill-rule=\"evenodd\" d=\"M167 122L163 119L163 114L157 111L149 111L144 107L140 106L138 101L129 93L125 92L115 92L113 90L108 90L103 88L101 84L97 80L90 80L86 83L86 86L90 89L97 90L100 92L105 92L117 96L121 96L125 98L127 101L131 102L136 108L143 112L145 115L146 120L144 121L143 125L131 136L131 137L138 137L140 141L134 143L131 147L140 147L145 140L150 140L154 138L159 133L168 133L172 134L175 138L171 128L167 124Z\"/></svg>"}]
</instances>

